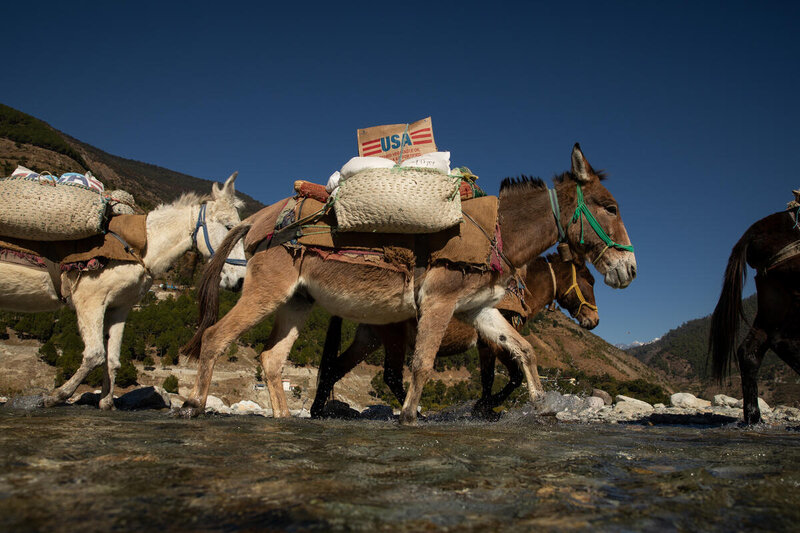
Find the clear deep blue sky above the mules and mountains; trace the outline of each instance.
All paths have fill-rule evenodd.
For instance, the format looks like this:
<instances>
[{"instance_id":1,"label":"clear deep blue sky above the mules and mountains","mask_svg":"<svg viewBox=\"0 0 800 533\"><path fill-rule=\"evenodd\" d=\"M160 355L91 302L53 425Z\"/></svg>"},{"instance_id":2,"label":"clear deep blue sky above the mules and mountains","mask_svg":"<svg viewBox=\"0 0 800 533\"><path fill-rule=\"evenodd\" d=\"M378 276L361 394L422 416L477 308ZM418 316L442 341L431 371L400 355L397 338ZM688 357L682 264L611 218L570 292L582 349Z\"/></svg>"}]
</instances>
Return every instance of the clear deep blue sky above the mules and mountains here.
<instances>
[{"instance_id":1,"label":"clear deep blue sky above the mules and mountains","mask_svg":"<svg viewBox=\"0 0 800 533\"><path fill-rule=\"evenodd\" d=\"M432 116L490 194L580 142L639 265L597 287L612 343L710 313L733 244L800 186L797 2L23 4L0 11L0 102L115 155L239 170L266 204L361 127Z\"/></svg>"}]
</instances>

